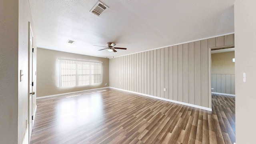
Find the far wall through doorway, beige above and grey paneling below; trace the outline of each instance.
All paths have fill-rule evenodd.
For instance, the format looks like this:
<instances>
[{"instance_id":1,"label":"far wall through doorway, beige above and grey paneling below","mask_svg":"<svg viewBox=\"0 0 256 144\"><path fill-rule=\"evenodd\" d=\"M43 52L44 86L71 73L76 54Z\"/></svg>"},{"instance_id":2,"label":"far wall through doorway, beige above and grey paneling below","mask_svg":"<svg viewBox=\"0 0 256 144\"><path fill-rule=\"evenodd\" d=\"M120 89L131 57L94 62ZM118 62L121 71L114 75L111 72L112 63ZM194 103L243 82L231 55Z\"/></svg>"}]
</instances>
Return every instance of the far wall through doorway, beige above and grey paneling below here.
<instances>
[{"instance_id":1,"label":"far wall through doorway, beige above and grey paneling below","mask_svg":"<svg viewBox=\"0 0 256 144\"><path fill-rule=\"evenodd\" d=\"M235 94L235 52L212 54L212 92Z\"/></svg>"}]
</instances>

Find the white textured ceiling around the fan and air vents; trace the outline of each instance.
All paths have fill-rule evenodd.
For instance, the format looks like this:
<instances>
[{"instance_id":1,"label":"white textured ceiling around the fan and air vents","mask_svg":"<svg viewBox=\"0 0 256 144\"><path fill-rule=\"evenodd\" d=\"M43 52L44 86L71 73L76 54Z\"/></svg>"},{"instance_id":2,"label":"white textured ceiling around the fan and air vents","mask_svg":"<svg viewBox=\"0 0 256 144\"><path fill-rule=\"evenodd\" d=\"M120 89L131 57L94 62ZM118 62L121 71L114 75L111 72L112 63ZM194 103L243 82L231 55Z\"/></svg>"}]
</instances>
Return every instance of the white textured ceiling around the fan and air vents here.
<instances>
[{"instance_id":1,"label":"white textured ceiling around the fan and air vents","mask_svg":"<svg viewBox=\"0 0 256 144\"><path fill-rule=\"evenodd\" d=\"M234 32L235 0L29 0L37 46L116 57ZM68 44L74 40L75 44ZM107 42L127 50L98 51Z\"/></svg>"}]
</instances>

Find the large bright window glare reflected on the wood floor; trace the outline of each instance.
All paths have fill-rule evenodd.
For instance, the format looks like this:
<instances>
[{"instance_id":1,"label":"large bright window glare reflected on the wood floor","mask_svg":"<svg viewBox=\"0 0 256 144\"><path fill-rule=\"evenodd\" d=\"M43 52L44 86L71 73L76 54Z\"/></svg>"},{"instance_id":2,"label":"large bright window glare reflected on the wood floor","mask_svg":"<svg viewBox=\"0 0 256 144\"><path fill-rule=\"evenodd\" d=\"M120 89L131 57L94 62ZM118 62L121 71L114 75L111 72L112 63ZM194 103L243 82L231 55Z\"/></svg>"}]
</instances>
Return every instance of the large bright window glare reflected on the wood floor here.
<instances>
[{"instance_id":1,"label":"large bright window glare reflected on the wood floor","mask_svg":"<svg viewBox=\"0 0 256 144\"><path fill-rule=\"evenodd\" d=\"M56 105L55 113L58 121L58 126L56 126L58 129L56 130L63 132L63 130L74 130L84 125L93 129L94 126L90 123L104 122L102 105L102 96L98 92L62 99Z\"/></svg>"}]
</instances>

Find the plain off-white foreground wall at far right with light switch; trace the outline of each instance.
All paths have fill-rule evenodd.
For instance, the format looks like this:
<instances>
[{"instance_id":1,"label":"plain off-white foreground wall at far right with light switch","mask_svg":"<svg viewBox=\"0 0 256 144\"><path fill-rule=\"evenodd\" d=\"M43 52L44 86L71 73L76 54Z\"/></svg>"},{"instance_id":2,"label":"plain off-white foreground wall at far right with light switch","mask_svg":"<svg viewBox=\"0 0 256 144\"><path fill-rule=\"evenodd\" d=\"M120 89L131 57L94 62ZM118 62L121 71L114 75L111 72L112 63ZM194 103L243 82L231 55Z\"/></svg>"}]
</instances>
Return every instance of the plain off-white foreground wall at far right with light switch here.
<instances>
[{"instance_id":1,"label":"plain off-white foreground wall at far right with light switch","mask_svg":"<svg viewBox=\"0 0 256 144\"><path fill-rule=\"evenodd\" d=\"M255 144L256 130L256 1L236 0L236 144ZM243 82L246 72L246 82Z\"/></svg>"}]
</instances>

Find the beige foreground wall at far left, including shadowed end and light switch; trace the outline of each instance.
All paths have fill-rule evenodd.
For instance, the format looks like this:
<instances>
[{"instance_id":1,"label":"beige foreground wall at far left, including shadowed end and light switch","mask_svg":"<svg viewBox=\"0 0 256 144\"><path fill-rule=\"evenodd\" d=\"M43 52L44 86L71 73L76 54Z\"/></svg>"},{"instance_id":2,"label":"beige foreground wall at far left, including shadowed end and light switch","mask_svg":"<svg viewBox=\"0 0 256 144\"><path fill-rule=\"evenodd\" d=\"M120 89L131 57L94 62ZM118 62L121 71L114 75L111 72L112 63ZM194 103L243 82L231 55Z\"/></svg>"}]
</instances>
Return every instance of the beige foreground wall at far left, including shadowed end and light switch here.
<instances>
[{"instance_id":1,"label":"beige foreground wall at far left, including shadowed end and light switch","mask_svg":"<svg viewBox=\"0 0 256 144\"><path fill-rule=\"evenodd\" d=\"M0 3L0 142L20 144L28 118L28 22L32 28L33 22L28 0Z\"/></svg>"}]
</instances>

